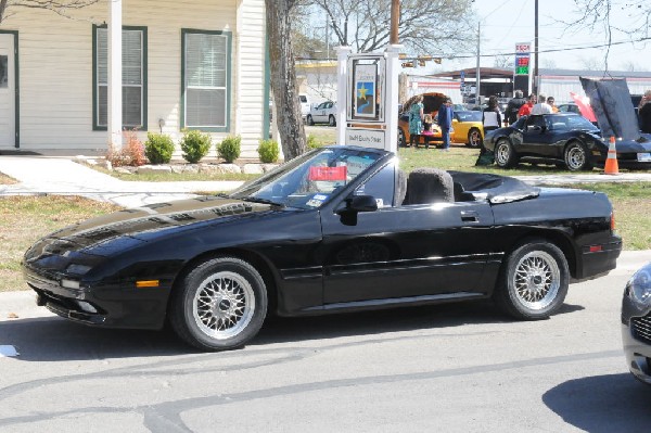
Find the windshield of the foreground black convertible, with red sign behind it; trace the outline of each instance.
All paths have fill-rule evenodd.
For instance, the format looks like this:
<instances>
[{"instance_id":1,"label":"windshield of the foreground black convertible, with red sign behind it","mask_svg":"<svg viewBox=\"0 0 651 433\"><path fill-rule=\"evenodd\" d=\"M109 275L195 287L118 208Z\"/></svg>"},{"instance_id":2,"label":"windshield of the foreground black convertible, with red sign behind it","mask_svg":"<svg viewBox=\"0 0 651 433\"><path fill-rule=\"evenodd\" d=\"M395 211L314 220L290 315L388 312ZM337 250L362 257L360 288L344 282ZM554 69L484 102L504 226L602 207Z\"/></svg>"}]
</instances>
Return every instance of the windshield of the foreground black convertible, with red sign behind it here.
<instances>
[{"instance_id":1,"label":"windshield of the foreground black convertible, with red sign behind it","mask_svg":"<svg viewBox=\"0 0 651 433\"><path fill-rule=\"evenodd\" d=\"M362 148L318 149L240 187L228 196L288 207L320 207L384 154Z\"/></svg>"}]
</instances>

